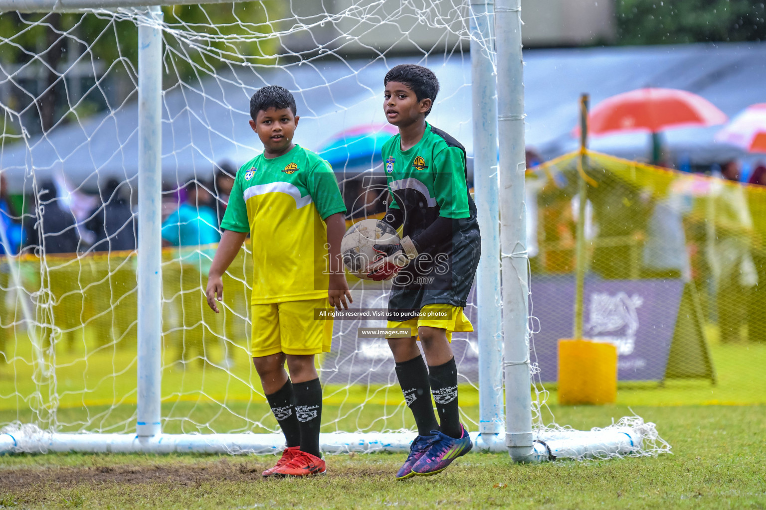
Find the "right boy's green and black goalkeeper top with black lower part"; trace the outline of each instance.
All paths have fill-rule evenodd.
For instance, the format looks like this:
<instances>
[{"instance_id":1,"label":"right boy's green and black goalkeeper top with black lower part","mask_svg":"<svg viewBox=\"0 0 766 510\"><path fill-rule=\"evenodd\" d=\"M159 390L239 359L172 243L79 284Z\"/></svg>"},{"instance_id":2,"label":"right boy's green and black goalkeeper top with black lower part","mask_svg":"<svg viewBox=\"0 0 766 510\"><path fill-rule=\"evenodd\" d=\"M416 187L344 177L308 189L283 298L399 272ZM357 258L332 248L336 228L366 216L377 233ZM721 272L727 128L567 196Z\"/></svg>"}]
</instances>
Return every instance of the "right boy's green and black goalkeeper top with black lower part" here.
<instances>
[{"instance_id":1,"label":"right boy's green and black goalkeeper top with black lower part","mask_svg":"<svg viewBox=\"0 0 766 510\"><path fill-rule=\"evenodd\" d=\"M465 148L426 123L414 147L402 151L400 135L395 135L383 145L382 157L394 197L387 217L401 219L402 236L414 239L420 252L394 278L389 310L401 313L434 303L465 307L481 252Z\"/></svg>"}]
</instances>

